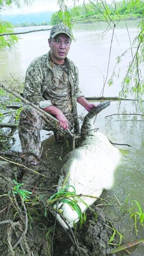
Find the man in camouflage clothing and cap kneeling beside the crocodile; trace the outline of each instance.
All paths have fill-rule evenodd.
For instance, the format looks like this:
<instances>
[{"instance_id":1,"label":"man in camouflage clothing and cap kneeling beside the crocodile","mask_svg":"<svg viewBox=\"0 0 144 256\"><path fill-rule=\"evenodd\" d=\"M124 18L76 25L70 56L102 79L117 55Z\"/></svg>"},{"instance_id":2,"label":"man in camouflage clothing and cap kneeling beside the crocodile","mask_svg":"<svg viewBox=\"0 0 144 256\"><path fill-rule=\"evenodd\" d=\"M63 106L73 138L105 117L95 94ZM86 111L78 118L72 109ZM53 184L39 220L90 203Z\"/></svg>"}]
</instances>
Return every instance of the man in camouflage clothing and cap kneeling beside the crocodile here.
<instances>
[{"instance_id":1,"label":"man in camouflage clothing and cap kneeling beside the crocodile","mask_svg":"<svg viewBox=\"0 0 144 256\"><path fill-rule=\"evenodd\" d=\"M48 40L50 51L31 62L26 72L24 97L45 112L54 116L67 134L67 129L79 132L77 102L90 111L95 104L88 102L79 90L78 70L67 58L72 34L63 24L53 26ZM19 137L24 164L40 163L40 129L47 124L34 108L25 108L20 113ZM60 133L51 125L55 138Z\"/></svg>"}]
</instances>

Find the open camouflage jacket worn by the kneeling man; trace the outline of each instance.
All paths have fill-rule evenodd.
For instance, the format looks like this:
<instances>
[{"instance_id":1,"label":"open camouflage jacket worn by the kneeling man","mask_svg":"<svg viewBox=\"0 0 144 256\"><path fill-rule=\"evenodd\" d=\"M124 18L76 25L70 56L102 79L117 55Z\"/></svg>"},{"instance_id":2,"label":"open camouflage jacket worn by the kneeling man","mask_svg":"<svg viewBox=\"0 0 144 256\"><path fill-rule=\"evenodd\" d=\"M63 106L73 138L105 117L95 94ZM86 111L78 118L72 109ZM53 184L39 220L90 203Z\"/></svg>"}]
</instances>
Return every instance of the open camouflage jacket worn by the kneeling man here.
<instances>
[{"instance_id":1,"label":"open camouflage jacket worn by the kneeling man","mask_svg":"<svg viewBox=\"0 0 144 256\"><path fill-rule=\"evenodd\" d=\"M61 68L61 65L58 65ZM65 59L65 66L68 67L68 83L70 84L70 98L72 102L72 116L74 118L75 132L79 132L79 122L77 117L77 98L83 96L79 90L78 70L74 63L68 58ZM31 62L26 72L24 84L24 97L30 102L38 105L40 108L46 108L54 104L52 100L52 88L56 83L58 73L61 72L59 67L54 68L48 54L44 54ZM60 71L60 72L59 72ZM66 74L65 73L65 74ZM60 80L60 78L59 78ZM60 81L57 81L57 85ZM55 86L56 87L56 86ZM63 87L63 96L65 88ZM65 95L67 101L67 95ZM53 97L54 98L54 97Z\"/></svg>"}]
</instances>

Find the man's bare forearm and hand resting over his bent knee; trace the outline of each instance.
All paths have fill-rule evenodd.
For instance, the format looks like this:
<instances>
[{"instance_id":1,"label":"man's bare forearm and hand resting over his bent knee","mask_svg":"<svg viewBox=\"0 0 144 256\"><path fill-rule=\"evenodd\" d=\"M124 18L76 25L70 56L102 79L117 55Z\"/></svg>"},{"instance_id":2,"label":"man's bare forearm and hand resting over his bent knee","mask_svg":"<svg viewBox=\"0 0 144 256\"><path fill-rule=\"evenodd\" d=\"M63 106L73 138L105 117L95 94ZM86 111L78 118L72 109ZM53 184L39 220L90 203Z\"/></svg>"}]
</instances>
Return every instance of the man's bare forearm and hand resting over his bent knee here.
<instances>
[{"instance_id":1,"label":"man's bare forearm and hand resting over his bent knee","mask_svg":"<svg viewBox=\"0 0 144 256\"><path fill-rule=\"evenodd\" d=\"M58 121L60 122L60 126L65 130L68 129L68 120L60 109L51 105L47 108L44 108L44 111L49 114L55 115L56 119L58 119Z\"/></svg>"}]
</instances>

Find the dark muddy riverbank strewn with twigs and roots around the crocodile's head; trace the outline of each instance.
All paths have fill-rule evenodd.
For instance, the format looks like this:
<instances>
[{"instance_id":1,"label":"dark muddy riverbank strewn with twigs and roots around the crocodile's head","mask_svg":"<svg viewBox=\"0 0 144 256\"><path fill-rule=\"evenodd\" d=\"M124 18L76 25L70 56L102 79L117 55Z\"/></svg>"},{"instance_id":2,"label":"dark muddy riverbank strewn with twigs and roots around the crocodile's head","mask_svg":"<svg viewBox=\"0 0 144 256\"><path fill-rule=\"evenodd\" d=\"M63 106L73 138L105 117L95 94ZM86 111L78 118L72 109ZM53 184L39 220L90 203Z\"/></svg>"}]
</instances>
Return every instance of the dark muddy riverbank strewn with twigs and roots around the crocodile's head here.
<instances>
[{"instance_id":1,"label":"dark muddy riverbank strewn with twigs and roots around the crocodile's head","mask_svg":"<svg viewBox=\"0 0 144 256\"><path fill-rule=\"evenodd\" d=\"M54 219L47 200L56 191L63 158L72 145L51 137L43 147L42 164L33 168L41 175L24 170L19 152L0 154L0 255L114 256L110 252L115 246L108 242L115 225L96 204L86 211L82 227L65 231ZM29 198L16 193L13 180L24 182L20 189L31 191Z\"/></svg>"}]
</instances>

